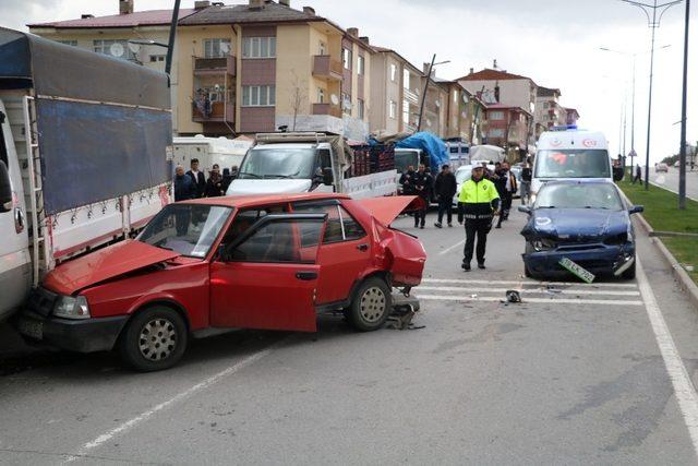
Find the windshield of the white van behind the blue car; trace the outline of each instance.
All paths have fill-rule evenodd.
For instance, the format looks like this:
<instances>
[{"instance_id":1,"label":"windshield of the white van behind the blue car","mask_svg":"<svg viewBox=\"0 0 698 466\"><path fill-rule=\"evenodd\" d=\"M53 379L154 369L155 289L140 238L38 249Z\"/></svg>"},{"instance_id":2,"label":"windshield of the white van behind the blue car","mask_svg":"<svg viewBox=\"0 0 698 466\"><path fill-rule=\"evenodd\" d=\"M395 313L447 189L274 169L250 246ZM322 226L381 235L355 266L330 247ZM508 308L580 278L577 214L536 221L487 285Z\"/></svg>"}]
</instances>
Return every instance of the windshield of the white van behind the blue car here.
<instances>
[{"instance_id":1,"label":"windshield of the white van behind the blue car","mask_svg":"<svg viewBox=\"0 0 698 466\"><path fill-rule=\"evenodd\" d=\"M611 162L605 150L561 148L538 151L535 178L611 178Z\"/></svg>"}]
</instances>

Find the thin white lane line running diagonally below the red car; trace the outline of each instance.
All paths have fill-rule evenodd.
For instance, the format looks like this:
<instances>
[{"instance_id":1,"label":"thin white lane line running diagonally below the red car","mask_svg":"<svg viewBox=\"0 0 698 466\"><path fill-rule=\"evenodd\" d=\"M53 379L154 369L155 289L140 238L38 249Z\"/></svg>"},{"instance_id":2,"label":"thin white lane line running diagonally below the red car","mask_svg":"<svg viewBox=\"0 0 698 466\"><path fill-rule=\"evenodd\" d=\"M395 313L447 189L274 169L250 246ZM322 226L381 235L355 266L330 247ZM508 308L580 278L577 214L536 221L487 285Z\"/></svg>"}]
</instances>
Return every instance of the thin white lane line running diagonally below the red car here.
<instances>
[{"instance_id":1,"label":"thin white lane line running diagonally below the red car","mask_svg":"<svg viewBox=\"0 0 698 466\"><path fill-rule=\"evenodd\" d=\"M281 340L282 342L282 340ZM87 452L89 452L91 450L96 449L97 446L104 444L105 442L108 442L109 440L113 439L116 435L119 435L123 432L125 432L127 430L135 427L136 425L147 420L148 418L151 418L153 415L157 414L158 411L161 411L163 409L169 408L170 406L182 402L186 398L189 398L190 396L192 396L194 393L200 392L204 389L209 387L210 385L215 384L216 382L220 381L224 378L227 378L229 375L234 374L236 372L240 371L241 369L244 369L245 367L252 365L253 362L258 361L260 359L268 356L269 354L272 354L272 351L274 351L278 346L280 346L281 342L278 342L272 346L269 346L266 349L263 349L258 353L255 353L249 357L246 357L245 359L241 360L240 362L230 366L229 368L218 372L215 375L209 377L208 379L205 379L204 381L197 383L196 385L191 386L190 389L172 396L170 399L160 403L159 405L156 405L154 407L152 407L151 409L141 413L139 416L129 419L128 421L123 422L122 425L109 430L106 433L103 433L101 435L97 437L96 439L85 443L75 455L70 456L68 459L65 459L65 463L72 463L75 459L80 459L81 456L85 455Z\"/></svg>"}]
</instances>

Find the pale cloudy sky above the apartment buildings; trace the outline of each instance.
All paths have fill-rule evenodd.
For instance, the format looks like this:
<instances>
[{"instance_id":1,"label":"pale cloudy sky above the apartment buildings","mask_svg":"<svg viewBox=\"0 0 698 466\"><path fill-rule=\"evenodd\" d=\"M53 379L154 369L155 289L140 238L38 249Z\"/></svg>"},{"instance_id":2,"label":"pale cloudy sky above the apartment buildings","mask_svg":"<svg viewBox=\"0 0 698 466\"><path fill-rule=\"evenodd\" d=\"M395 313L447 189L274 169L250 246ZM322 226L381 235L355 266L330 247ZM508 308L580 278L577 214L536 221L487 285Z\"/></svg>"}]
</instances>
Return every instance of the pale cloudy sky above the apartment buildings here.
<instances>
[{"instance_id":1,"label":"pale cloudy sky above the apartment buildings","mask_svg":"<svg viewBox=\"0 0 698 466\"><path fill-rule=\"evenodd\" d=\"M642 0L651 2L653 0ZM661 0L659 3L662 3ZM226 4L243 3L226 0ZM182 0L182 8L193 7ZM173 0L135 0L135 10L171 8ZM393 48L421 69L433 53L437 75L456 79L470 68L501 69L562 91L562 105L581 113L579 126L603 131L621 153L631 144L633 59L600 47L636 52L635 150L645 159L650 28L645 13L622 0L291 0L340 26L359 27L371 44ZM698 5L690 15L688 133L698 141ZM0 0L0 26L27 31L33 22L116 14L118 0ZM684 4L665 12L657 29L650 159L679 147ZM691 86L693 85L693 86Z\"/></svg>"}]
</instances>

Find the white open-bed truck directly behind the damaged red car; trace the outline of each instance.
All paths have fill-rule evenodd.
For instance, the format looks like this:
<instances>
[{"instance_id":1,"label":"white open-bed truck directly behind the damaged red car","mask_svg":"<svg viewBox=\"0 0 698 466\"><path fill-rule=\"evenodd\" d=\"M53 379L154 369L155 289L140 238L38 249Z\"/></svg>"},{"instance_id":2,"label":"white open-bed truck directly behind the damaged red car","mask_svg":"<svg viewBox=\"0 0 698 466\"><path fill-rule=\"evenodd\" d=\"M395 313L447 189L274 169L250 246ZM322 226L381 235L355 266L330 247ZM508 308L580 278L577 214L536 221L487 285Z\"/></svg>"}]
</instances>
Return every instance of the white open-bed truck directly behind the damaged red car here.
<instances>
[{"instance_id":1,"label":"white open-bed truck directly behind the damaged red car","mask_svg":"<svg viewBox=\"0 0 698 466\"><path fill-rule=\"evenodd\" d=\"M362 167L360 170L359 167ZM227 194L340 192L354 199L395 195L392 166L359 164L354 150L338 135L313 132L256 135Z\"/></svg>"}]
</instances>

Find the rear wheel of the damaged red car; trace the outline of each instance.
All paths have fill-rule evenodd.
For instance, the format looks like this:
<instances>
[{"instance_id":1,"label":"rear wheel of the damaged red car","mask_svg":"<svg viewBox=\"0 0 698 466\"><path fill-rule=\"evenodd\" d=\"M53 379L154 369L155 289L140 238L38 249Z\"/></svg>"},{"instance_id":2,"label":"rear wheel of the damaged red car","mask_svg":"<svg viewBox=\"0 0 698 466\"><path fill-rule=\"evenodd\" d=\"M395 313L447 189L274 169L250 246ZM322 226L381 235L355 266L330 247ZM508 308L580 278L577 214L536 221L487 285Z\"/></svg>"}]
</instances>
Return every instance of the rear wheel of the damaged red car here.
<instances>
[{"instance_id":1,"label":"rear wheel of the damaged red car","mask_svg":"<svg viewBox=\"0 0 698 466\"><path fill-rule=\"evenodd\" d=\"M361 332L381 328L390 314L390 288L384 279L371 277L357 289L349 308L349 322Z\"/></svg>"}]
</instances>

